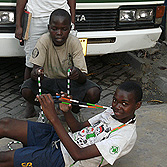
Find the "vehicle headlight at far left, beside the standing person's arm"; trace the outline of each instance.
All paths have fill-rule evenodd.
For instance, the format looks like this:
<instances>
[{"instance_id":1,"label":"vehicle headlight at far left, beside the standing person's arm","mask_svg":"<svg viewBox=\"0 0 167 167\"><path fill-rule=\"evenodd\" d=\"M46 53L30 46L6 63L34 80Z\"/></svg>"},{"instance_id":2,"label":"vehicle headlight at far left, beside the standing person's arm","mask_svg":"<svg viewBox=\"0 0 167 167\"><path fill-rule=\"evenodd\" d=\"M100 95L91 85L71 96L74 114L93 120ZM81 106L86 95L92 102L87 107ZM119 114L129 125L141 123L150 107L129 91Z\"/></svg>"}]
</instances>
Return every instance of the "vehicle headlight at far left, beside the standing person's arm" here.
<instances>
[{"instance_id":1,"label":"vehicle headlight at far left, beside the standing person's arm","mask_svg":"<svg viewBox=\"0 0 167 167\"><path fill-rule=\"evenodd\" d=\"M0 11L0 24L14 23L14 12Z\"/></svg>"}]
</instances>

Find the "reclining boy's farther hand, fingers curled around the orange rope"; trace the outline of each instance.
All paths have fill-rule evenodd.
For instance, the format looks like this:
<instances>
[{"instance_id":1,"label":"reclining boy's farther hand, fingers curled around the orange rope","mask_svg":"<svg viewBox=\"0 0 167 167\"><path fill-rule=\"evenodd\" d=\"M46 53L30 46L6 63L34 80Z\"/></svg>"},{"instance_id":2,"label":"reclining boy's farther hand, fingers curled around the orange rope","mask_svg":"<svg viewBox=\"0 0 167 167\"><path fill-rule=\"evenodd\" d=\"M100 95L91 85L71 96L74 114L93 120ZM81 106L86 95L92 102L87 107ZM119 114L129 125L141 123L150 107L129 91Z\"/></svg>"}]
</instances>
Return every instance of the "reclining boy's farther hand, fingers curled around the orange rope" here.
<instances>
[{"instance_id":1,"label":"reclining boy's farther hand, fingers curled around the orange rope","mask_svg":"<svg viewBox=\"0 0 167 167\"><path fill-rule=\"evenodd\" d=\"M69 101L66 101L66 100L62 99L62 97L65 97L65 98L68 98L68 99L72 99L71 96L67 96L67 93L64 93L64 92L61 92L61 97L60 97L59 100L63 101L63 102L69 103ZM67 104L59 103L59 108L63 112L68 112L68 111L71 111L72 105L71 104L67 105Z\"/></svg>"}]
</instances>

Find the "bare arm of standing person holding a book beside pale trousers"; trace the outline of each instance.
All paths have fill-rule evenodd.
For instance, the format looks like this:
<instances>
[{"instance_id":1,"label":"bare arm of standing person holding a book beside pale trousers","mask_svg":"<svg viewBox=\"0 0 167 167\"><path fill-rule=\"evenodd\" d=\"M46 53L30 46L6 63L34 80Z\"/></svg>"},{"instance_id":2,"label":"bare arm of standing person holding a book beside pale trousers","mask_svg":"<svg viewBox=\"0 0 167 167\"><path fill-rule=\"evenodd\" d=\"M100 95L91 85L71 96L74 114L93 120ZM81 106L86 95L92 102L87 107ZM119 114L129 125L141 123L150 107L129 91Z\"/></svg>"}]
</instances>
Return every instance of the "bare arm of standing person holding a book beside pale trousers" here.
<instances>
[{"instance_id":1,"label":"bare arm of standing person holding a book beside pale trousers","mask_svg":"<svg viewBox=\"0 0 167 167\"><path fill-rule=\"evenodd\" d=\"M22 15L24 12L25 5L28 0L17 0L16 4L16 31L15 31L15 38L22 39Z\"/></svg>"}]
</instances>

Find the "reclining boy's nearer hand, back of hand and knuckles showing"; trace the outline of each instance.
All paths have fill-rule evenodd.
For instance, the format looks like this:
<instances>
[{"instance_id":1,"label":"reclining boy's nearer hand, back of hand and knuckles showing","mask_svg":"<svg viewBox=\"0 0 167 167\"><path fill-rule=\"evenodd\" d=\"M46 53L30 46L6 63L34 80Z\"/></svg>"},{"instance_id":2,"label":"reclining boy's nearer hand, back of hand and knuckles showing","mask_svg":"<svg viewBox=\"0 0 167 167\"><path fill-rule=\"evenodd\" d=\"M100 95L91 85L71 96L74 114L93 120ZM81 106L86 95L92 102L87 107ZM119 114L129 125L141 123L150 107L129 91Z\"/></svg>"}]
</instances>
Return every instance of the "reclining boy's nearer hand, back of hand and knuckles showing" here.
<instances>
[{"instance_id":1,"label":"reclining boy's nearer hand, back of hand and knuckles showing","mask_svg":"<svg viewBox=\"0 0 167 167\"><path fill-rule=\"evenodd\" d=\"M45 113L47 119L50 121L54 119L57 116L57 114L51 94L37 95L37 99L39 100L42 106L42 110Z\"/></svg>"}]
</instances>

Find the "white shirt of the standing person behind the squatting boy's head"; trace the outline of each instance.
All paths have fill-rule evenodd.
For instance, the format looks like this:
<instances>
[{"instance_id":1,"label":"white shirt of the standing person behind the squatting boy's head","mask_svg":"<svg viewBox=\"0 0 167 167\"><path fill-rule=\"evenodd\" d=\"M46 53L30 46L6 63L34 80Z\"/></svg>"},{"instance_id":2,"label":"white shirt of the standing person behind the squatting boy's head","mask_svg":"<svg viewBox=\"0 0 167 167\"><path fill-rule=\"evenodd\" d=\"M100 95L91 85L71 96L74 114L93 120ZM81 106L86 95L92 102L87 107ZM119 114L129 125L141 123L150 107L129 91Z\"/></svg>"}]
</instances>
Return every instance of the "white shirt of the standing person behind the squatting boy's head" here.
<instances>
[{"instance_id":1,"label":"white shirt of the standing person behind the squatting boy's head","mask_svg":"<svg viewBox=\"0 0 167 167\"><path fill-rule=\"evenodd\" d=\"M69 12L67 0L28 0L26 8L32 13L32 17L49 17L58 8Z\"/></svg>"}]
</instances>

